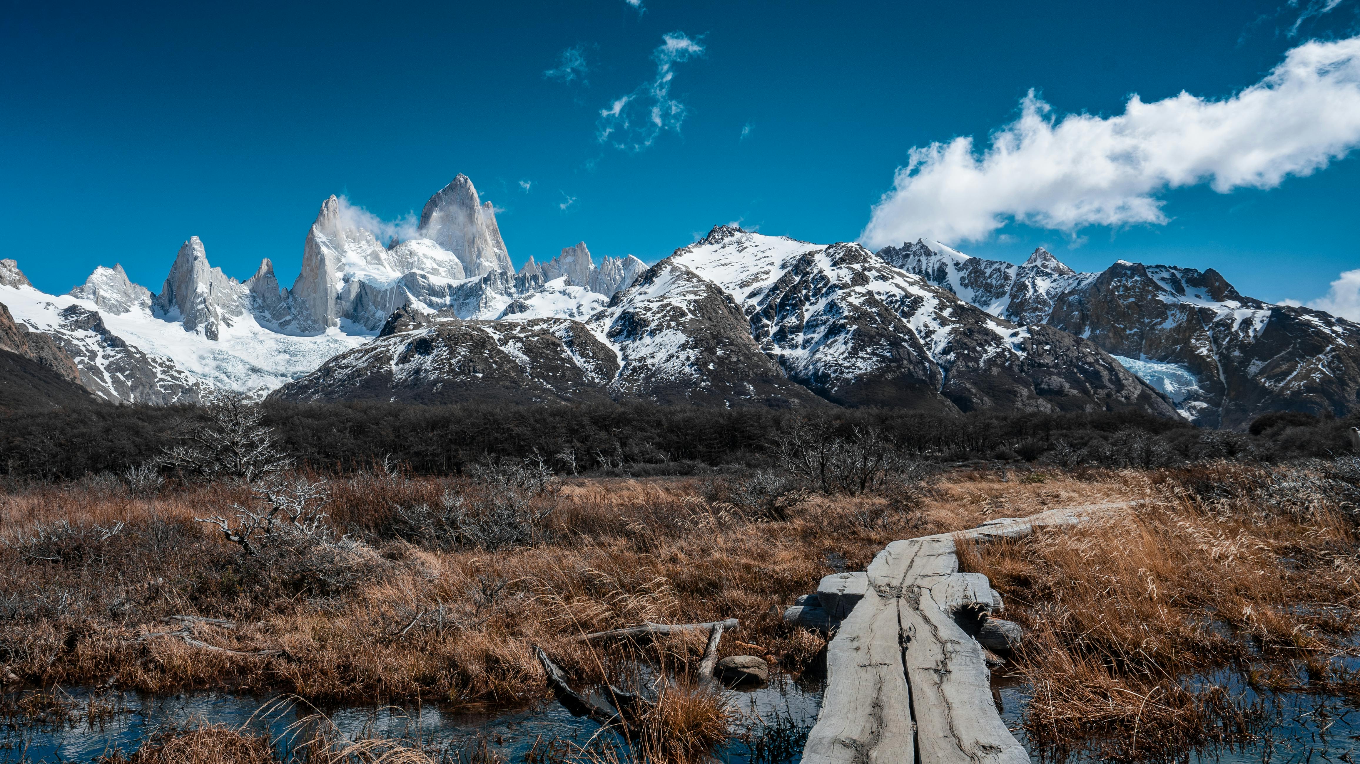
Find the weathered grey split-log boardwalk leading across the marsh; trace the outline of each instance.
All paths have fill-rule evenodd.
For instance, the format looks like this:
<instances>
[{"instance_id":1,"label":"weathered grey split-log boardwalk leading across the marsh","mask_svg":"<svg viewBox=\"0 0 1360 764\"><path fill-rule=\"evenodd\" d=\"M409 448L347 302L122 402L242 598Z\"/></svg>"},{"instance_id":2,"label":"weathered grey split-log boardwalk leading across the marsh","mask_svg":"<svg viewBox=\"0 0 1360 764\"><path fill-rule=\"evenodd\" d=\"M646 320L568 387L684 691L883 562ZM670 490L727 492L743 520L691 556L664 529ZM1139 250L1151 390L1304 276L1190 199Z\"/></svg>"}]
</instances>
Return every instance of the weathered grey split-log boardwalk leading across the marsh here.
<instances>
[{"instance_id":1,"label":"weathered grey split-log boardwalk leading across the marsh","mask_svg":"<svg viewBox=\"0 0 1360 764\"><path fill-rule=\"evenodd\" d=\"M1028 763L991 699L982 646L960 625L1001 609L1001 597L985 575L959 572L955 542L1015 538L1123 506L1065 507L894 541L866 576L827 576L820 608L843 620L827 646L827 689L802 761Z\"/></svg>"}]
</instances>

